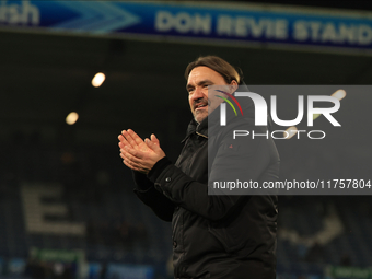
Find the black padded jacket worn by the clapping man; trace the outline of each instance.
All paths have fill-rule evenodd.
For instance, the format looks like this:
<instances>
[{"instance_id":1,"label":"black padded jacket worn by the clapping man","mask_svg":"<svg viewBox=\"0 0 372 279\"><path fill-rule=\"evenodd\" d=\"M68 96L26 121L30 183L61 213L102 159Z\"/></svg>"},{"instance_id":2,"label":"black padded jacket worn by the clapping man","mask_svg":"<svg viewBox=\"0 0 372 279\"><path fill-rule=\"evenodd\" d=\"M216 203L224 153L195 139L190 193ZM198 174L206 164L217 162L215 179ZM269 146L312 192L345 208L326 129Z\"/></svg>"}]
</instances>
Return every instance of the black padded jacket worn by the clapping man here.
<instances>
[{"instance_id":1,"label":"black padded jacket worn by the clapping man","mask_svg":"<svg viewBox=\"0 0 372 279\"><path fill-rule=\"evenodd\" d=\"M277 196L208 195L208 175L209 182L228 173L256 182L278 179L271 139L231 137L242 125L267 130L254 127L252 104L248 108L245 117L229 115L231 125L223 129L208 129L208 118L200 125L193 120L175 164L164 158L148 177L135 173L137 196L162 220L172 221L175 278L276 277Z\"/></svg>"}]
</instances>

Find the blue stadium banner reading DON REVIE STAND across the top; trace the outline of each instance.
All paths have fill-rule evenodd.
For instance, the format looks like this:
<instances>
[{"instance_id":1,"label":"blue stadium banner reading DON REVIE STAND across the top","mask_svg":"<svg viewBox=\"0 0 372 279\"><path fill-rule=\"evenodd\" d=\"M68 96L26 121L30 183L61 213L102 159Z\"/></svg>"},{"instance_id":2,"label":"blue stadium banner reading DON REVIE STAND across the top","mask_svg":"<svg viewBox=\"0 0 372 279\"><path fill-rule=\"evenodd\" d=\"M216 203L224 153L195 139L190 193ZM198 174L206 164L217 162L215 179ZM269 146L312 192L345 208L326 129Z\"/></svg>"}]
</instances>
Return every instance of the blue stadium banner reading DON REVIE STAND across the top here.
<instances>
[{"instance_id":1,"label":"blue stadium banner reading DON REVIE STAND across the top","mask_svg":"<svg viewBox=\"0 0 372 279\"><path fill-rule=\"evenodd\" d=\"M370 13L228 2L2 0L0 28L200 44L372 50Z\"/></svg>"}]
</instances>

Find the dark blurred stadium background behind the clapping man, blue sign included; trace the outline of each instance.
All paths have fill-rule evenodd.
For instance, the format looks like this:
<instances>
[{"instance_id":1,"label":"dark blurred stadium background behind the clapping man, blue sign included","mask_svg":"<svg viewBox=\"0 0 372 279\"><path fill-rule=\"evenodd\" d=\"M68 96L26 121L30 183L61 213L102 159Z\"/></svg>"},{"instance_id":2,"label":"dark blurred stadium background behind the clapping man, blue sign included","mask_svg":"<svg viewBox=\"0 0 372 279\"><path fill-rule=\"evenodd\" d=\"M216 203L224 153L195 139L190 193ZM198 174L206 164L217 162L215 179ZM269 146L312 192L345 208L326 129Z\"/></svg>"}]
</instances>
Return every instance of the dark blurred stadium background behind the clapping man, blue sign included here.
<instances>
[{"instance_id":1,"label":"dark blurred stadium background behind the clapping man, blue sign included","mask_svg":"<svg viewBox=\"0 0 372 279\"><path fill-rule=\"evenodd\" d=\"M241 68L249 89L348 85L334 115L342 127L321 116L324 140L276 140L281 178L371 179L371 10L0 1L0 278L173 278L170 223L132 193L117 136L155 133L175 161L191 119L184 70L199 56ZM279 117L295 118L297 97L277 97ZM370 196L279 202L278 278L372 278Z\"/></svg>"}]
</instances>

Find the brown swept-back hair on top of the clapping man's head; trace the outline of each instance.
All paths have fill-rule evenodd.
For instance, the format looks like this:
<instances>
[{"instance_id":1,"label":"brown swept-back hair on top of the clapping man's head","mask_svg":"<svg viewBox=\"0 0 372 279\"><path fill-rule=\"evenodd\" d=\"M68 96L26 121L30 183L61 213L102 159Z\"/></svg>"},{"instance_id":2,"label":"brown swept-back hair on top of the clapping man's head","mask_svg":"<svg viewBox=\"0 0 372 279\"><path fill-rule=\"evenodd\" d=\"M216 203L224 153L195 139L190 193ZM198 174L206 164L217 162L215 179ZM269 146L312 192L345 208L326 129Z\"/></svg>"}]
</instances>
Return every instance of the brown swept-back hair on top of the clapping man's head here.
<instances>
[{"instance_id":1,"label":"brown swept-back hair on top of the clapping man's head","mask_svg":"<svg viewBox=\"0 0 372 279\"><path fill-rule=\"evenodd\" d=\"M198 59L190 62L186 67L185 79L187 80L190 71L199 66L205 66L212 69L213 71L217 71L222 75L228 84L230 84L233 80L236 81L237 84L241 84L242 82L242 77L237 73L237 70L218 56L200 56Z\"/></svg>"}]
</instances>

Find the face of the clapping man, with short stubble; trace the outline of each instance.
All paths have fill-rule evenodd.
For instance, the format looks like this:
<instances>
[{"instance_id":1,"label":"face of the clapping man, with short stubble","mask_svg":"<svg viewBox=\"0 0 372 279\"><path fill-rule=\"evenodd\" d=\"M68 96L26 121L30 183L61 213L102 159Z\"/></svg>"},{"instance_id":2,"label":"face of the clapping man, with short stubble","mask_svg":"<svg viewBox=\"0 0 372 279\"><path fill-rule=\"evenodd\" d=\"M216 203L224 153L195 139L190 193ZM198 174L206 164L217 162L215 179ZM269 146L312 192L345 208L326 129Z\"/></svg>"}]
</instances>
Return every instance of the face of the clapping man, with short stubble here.
<instances>
[{"instance_id":1,"label":"face of the clapping man, with short stubble","mask_svg":"<svg viewBox=\"0 0 372 279\"><path fill-rule=\"evenodd\" d=\"M235 81L233 82L236 84ZM211 113L217 107L208 107L208 85L225 84L222 75L208 67L199 66L190 71L186 89L191 113L197 123L201 123L208 116L208 109Z\"/></svg>"}]
</instances>

